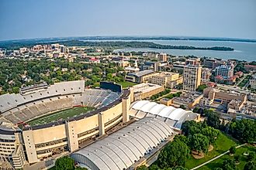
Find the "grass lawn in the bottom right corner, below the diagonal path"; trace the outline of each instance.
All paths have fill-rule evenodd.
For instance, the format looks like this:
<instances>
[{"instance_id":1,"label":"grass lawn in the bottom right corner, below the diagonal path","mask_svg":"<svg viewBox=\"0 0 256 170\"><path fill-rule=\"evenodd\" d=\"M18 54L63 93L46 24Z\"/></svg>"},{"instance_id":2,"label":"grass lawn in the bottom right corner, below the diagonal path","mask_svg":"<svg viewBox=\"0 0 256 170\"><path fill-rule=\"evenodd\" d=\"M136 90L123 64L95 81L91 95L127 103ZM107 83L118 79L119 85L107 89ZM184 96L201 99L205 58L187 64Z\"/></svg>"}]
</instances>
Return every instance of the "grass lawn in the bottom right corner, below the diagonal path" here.
<instances>
[{"instance_id":1,"label":"grass lawn in the bottom right corner, below the diagonal path","mask_svg":"<svg viewBox=\"0 0 256 170\"><path fill-rule=\"evenodd\" d=\"M236 154L235 155L240 155L240 164L237 165L237 169L244 169L244 165L247 162L246 156L244 156L244 152L245 151L256 151L256 148L251 146L251 145L245 145L241 148L237 148ZM214 160L213 162L209 162L209 164L202 166L201 168L199 168L199 170L210 170L213 168L217 168L217 167L222 167L223 161L227 158L234 158L234 156L230 156L230 155L223 155L222 157Z\"/></svg>"}]
</instances>

